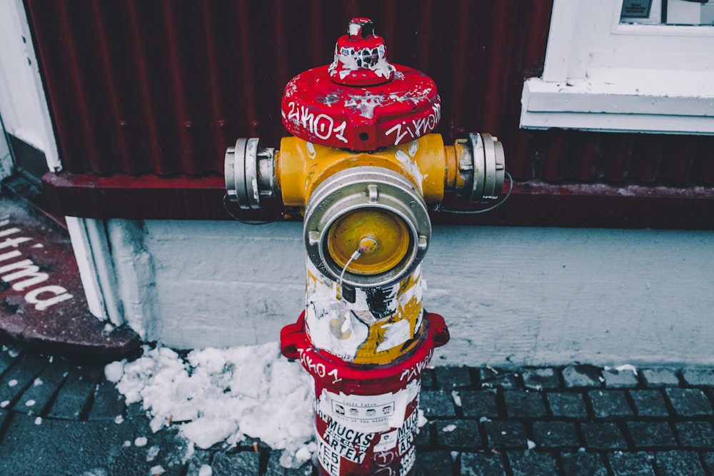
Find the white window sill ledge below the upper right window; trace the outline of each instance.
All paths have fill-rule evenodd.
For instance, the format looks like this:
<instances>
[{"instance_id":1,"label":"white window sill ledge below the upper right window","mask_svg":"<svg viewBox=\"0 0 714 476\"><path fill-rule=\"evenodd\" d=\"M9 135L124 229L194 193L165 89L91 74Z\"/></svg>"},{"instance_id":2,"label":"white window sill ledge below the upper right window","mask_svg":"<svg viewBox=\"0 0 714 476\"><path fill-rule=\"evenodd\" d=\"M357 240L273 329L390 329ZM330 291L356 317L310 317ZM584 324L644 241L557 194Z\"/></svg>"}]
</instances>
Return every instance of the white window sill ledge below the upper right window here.
<instances>
[{"instance_id":1,"label":"white window sill ledge below the upper right window","mask_svg":"<svg viewBox=\"0 0 714 476\"><path fill-rule=\"evenodd\" d=\"M638 81L641 74L658 79ZM714 83L714 74L688 72L686 82L681 74L608 71L573 83L531 78L523 85L521 127L714 134L714 96L705 88Z\"/></svg>"}]
</instances>

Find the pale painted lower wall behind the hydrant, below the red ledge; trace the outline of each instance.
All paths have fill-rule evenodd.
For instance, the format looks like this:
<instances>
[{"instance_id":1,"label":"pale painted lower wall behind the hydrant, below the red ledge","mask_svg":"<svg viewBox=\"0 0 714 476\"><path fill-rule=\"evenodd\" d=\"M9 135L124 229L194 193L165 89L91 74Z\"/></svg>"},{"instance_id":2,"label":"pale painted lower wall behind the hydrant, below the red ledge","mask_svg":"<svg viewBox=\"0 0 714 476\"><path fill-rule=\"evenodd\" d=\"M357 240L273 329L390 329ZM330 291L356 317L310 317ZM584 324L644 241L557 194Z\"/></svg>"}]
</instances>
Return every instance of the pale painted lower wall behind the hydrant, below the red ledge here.
<instances>
[{"instance_id":1,"label":"pale painted lower wall behind the hydrant, below the red ledge","mask_svg":"<svg viewBox=\"0 0 714 476\"><path fill-rule=\"evenodd\" d=\"M135 305L128 320L147 339L268 342L301 312L301 223L146 221L141 230L153 307ZM712 232L438 226L431 243L426 309L451 330L437 363L714 364ZM128 265L119 263L120 287Z\"/></svg>"}]
</instances>

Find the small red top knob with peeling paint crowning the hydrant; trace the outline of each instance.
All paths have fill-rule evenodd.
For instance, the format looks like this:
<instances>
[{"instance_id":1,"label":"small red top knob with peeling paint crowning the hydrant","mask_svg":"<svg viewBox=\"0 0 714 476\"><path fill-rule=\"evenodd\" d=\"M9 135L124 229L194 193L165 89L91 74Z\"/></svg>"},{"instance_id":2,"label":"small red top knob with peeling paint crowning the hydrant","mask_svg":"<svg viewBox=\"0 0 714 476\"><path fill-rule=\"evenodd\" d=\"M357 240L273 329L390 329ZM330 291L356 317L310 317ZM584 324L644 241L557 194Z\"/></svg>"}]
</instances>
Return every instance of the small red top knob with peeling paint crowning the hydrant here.
<instances>
[{"instance_id":1,"label":"small red top knob with peeling paint crowning the hydrant","mask_svg":"<svg viewBox=\"0 0 714 476\"><path fill-rule=\"evenodd\" d=\"M347 34L337 40L328 71L332 81L345 86L376 86L393 79L394 66L387 61L384 40L374 34L371 19L350 21Z\"/></svg>"}]
</instances>

